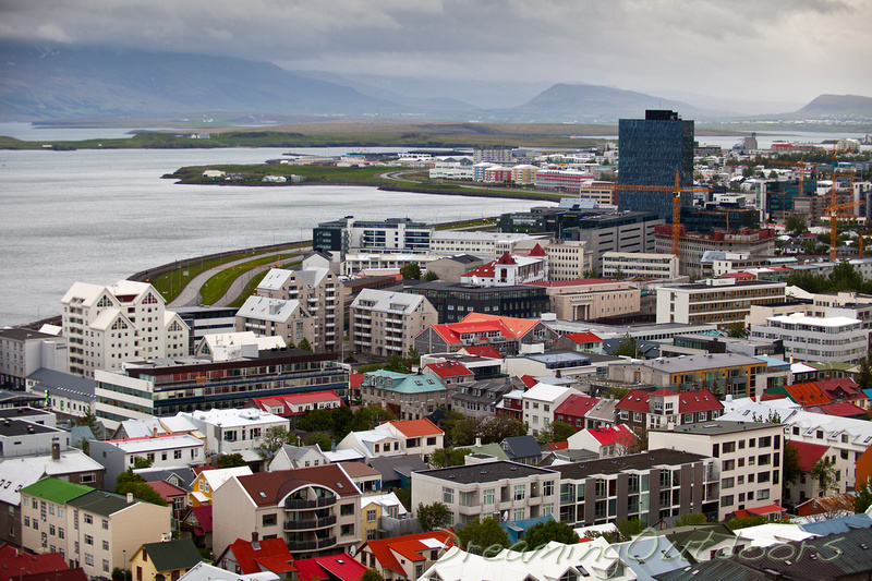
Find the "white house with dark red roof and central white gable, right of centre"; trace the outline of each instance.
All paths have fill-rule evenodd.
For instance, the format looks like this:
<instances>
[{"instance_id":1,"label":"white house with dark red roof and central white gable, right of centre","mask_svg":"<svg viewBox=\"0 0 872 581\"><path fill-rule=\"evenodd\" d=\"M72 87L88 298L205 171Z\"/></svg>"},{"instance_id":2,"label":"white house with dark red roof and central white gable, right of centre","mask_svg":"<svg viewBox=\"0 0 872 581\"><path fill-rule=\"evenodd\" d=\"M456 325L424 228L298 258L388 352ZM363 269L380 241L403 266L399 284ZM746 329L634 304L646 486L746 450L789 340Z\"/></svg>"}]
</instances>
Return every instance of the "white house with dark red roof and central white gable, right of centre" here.
<instances>
[{"instance_id":1,"label":"white house with dark red roof and central white gable, right of centre","mask_svg":"<svg viewBox=\"0 0 872 581\"><path fill-rule=\"evenodd\" d=\"M707 422L724 413L724 404L707 389L631 389L615 409L619 421L634 429Z\"/></svg>"}]
</instances>

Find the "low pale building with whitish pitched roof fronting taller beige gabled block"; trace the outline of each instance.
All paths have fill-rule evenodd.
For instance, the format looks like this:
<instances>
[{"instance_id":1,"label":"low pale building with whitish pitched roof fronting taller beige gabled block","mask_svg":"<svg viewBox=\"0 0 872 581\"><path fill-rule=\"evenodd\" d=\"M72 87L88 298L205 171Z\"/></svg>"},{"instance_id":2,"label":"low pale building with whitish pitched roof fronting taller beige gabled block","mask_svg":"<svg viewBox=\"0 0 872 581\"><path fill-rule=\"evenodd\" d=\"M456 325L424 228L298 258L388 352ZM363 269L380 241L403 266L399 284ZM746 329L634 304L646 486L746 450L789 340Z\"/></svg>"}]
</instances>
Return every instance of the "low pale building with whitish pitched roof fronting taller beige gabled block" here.
<instances>
[{"instance_id":1,"label":"low pale building with whitish pitched roof fronting taller beige gabled block","mask_svg":"<svg viewBox=\"0 0 872 581\"><path fill-rule=\"evenodd\" d=\"M303 339L315 343L315 318L300 301L249 296L237 312L237 332L252 331L258 337L280 337L284 344Z\"/></svg>"}]
</instances>

